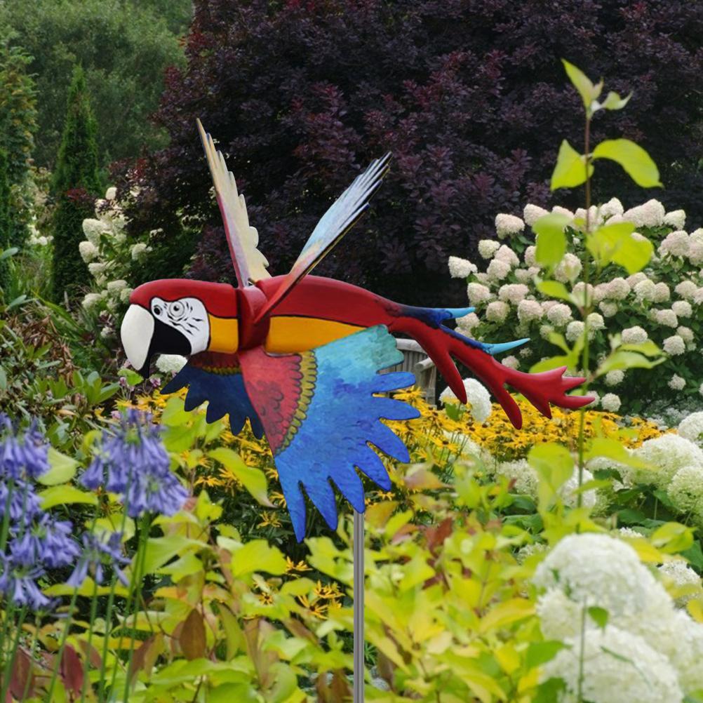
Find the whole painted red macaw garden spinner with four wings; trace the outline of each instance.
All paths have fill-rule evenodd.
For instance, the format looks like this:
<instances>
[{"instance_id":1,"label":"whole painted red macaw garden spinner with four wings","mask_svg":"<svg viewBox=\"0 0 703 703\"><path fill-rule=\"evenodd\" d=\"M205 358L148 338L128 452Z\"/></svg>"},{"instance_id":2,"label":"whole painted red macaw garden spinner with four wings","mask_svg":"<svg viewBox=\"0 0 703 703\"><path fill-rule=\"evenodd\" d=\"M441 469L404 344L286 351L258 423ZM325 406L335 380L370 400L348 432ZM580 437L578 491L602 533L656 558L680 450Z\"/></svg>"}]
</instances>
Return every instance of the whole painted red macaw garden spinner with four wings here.
<instances>
[{"instance_id":1,"label":"whole painted red macaw garden spinner with four wings","mask_svg":"<svg viewBox=\"0 0 703 703\"><path fill-rule=\"evenodd\" d=\"M309 275L366 210L389 155L375 160L325 212L290 272L271 277L244 197L200 120L198 129L238 288L188 279L144 283L131 293L122 344L143 376L154 354L188 356L162 392L188 386L186 410L207 401L208 422L228 414L238 434L248 418L257 437L266 434L299 541L305 532L303 491L335 529L333 484L359 512L364 494L357 468L382 489L390 488L385 466L370 445L401 462L409 460L402 441L380 421L418 416L408 404L380 395L415 382L412 373L379 373L402 361L393 334L417 340L464 403L463 380L452 357L465 364L517 428L520 408L505 385L548 417L550 403L579 408L591 400L567 395L583 379L565 378L565 368L527 374L494 359L528 340L484 344L445 325L472 308L411 307Z\"/></svg>"}]
</instances>

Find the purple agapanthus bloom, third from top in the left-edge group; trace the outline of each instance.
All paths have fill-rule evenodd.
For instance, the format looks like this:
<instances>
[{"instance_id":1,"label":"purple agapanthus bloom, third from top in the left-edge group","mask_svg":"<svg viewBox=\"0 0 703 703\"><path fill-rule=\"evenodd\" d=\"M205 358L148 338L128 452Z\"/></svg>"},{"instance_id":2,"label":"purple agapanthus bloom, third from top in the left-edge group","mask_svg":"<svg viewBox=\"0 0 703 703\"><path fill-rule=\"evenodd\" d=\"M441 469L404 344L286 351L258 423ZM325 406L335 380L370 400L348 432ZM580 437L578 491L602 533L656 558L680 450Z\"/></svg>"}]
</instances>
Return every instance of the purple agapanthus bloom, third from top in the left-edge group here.
<instances>
[{"instance_id":1,"label":"purple agapanthus bloom, third from top in the left-edge group","mask_svg":"<svg viewBox=\"0 0 703 703\"><path fill-rule=\"evenodd\" d=\"M71 534L73 524L42 513L13 541L13 553L26 565L43 563L50 569L65 567L81 553Z\"/></svg>"}]
</instances>

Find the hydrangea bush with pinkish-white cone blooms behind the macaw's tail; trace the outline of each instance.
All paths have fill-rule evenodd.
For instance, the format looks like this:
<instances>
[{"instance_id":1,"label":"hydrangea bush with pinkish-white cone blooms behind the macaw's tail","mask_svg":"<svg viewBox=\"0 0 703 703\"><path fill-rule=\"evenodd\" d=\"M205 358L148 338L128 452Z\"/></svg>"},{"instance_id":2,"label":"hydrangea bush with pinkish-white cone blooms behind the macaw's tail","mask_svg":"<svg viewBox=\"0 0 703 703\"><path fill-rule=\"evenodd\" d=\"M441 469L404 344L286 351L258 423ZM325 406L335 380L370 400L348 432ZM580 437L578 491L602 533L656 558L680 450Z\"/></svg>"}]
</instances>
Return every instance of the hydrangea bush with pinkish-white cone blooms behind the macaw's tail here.
<instances>
[{"instance_id":1,"label":"hydrangea bush with pinkish-white cone blooms behind the macaw's tail","mask_svg":"<svg viewBox=\"0 0 703 703\"><path fill-rule=\"evenodd\" d=\"M630 276L615 265L592 271L586 288L580 280L584 238L578 226L586 213L561 207L551 212L568 219L568 250L553 278L573 299L555 299L550 289L539 285L546 271L536 260L529 228L548 212L527 205L522 218L496 217L498 239L479 243L481 262L449 259L451 276L466 278L468 298L476 307L460 319L460 328L477 339L529 337L520 352L503 359L508 366L528 370L553 356L555 345L563 349L563 341L573 344L583 333L577 308L587 290L596 307L588 318L591 370L610 353L614 340L624 344L651 340L666 354L657 373L613 368L595 379L591 387L598 394L597 404L613 412L639 413L647 408L650 414L652 401L660 411L666 404L702 405L703 356L698 340L703 331L703 228L688 233L683 210L666 212L657 200L627 210L617 198L592 206L594 226L631 222L637 227L635 236L647 238L654 254L643 271ZM582 369L574 365L572 371Z\"/></svg>"}]
</instances>

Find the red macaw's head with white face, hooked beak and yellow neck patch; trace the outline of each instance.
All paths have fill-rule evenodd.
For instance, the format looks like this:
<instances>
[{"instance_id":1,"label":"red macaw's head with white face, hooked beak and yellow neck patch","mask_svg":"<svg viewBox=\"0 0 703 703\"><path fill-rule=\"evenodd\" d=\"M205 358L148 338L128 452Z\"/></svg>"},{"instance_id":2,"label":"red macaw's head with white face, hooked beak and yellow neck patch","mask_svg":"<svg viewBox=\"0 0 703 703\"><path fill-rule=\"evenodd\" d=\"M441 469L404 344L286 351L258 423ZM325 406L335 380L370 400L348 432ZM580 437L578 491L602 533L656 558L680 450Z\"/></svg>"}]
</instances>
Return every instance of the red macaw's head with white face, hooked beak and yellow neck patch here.
<instances>
[{"instance_id":1,"label":"red macaw's head with white face, hooked beak and yellow neck patch","mask_svg":"<svg viewBox=\"0 0 703 703\"><path fill-rule=\"evenodd\" d=\"M238 347L236 288L187 278L135 288L120 336L127 359L145 378L154 354L233 354Z\"/></svg>"}]
</instances>

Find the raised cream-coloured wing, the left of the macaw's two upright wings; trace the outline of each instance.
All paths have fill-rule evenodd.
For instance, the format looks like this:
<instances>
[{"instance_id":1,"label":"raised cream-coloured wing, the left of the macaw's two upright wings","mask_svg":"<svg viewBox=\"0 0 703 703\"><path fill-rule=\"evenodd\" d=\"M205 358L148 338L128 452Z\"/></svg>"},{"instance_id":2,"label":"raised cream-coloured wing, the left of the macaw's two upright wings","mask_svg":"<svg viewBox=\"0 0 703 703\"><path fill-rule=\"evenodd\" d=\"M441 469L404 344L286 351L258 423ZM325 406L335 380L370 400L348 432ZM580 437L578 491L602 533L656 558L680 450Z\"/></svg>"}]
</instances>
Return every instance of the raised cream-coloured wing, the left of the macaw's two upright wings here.
<instances>
[{"instance_id":1,"label":"raised cream-coloured wing, the left of the macaw's two upright wings","mask_svg":"<svg viewBox=\"0 0 703 703\"><path fill-rule=\"evenodd\" d=\"M205 129L202 129L200 120L198 120L198 131L202 140L202 148L205 149L207 165L210 168L210 174L212 174L217 205L219 205L222 214L229 253L232 257L239 287L250 285L250 281L256 283L262 278L271 278L269 272L266 271L269 262L266 261L264 254L257 249L259 233L249 224L244 196L237 192L237 183L232 172L227 170L224 156L215 149L212 136L207 134Z\"/></svg>"}]
</instances>

